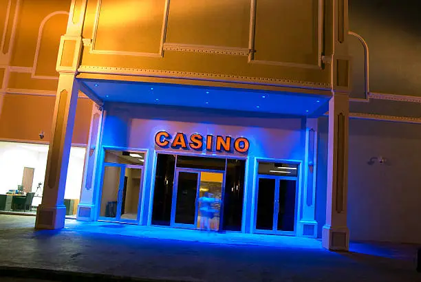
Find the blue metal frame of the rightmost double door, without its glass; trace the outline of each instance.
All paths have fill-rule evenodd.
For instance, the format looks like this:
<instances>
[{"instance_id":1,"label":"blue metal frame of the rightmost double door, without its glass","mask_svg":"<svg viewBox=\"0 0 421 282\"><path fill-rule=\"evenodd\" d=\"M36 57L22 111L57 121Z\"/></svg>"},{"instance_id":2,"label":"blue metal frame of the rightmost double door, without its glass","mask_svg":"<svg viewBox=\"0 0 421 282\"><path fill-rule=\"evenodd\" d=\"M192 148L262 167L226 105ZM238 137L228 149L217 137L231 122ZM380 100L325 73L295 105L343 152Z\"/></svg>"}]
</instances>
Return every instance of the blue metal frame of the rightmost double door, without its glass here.
<instances>
[{"instance_id":1,"label":"blue metal frame of the rightmost double door, without its glass","mask_svg":"<svg viewBox=\"0 0 421 282\"><path fill-rule=\"evenodd\" d=\"M274 206L273 206L273 223L272 223L272 230L262 230L262 229L257 229L256 225L257 225L257 210L259 208L258 203L259 203L259 179L260 178L264 178L264 179L273 179L275 180L275 190L274 190ZM258 174L257 175L257 180L256 180L256 195L255 195L255 211L254 211L254 217L255 217L255 224L253 226L253 233L257 233L257 234L269 234L269 235L294 235L295 231L296 231L296 222L294 223L294 231L283 231L283 230L278 230L278 220L279 220L279 181L280 180L294 180L295 181L295 191L297 190L297 185L298 185L298 177L291 177L291 176L282 176L282 175L264 175L264 174ZM295 195L295 199L294 199L295 203L294 205L296 206L296 195ZM296 217L296 215L294 215L294 217ZM296 221L294 219L294 221Z\"/></svg>"}]
</instances>

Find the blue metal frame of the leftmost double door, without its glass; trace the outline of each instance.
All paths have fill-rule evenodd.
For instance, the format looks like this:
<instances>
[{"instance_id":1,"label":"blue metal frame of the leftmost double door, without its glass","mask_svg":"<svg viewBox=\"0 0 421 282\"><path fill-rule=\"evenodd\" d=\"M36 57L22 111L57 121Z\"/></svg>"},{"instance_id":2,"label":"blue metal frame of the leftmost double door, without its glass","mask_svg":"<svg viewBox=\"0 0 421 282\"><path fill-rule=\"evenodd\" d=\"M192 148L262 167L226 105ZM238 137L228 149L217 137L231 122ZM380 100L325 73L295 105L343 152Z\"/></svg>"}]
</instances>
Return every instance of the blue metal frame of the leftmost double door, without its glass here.
<instances>
[{"instance_id":1,"label":"blue metal frame of the leftmost double door, without its glass","mask_svg":"<svg viewBox=\"0 0 421 282\"><path fill-rule=\"evenodd\" d=\"M120 168L120 181L118 182L118 192L117 192L117 211L116 211L116 217L102 217L100 216L101 213L101 204L98 204L98 220L100 221L112 221L112 222L121 222L121 223L138 223L139 222L139 208L140 203L138 201L138 212L136 215L136 219L121 219L121 207L122 207L122 192L125 185L125 171L126 168L129 169L141 169L142 172L140 173L140 186L139 186L139 197L140 190L142 189L142 183L143 183L143 174L144 174L144 166L138 165L138 164L117 164L114 162L103 162L102 164L102 173L101 173L101 180L100 180L100 197L99 202L102 202L102 192L104 188L104 176L105 176L105 167L118 167Z\"/></svg>"}]
</instances>

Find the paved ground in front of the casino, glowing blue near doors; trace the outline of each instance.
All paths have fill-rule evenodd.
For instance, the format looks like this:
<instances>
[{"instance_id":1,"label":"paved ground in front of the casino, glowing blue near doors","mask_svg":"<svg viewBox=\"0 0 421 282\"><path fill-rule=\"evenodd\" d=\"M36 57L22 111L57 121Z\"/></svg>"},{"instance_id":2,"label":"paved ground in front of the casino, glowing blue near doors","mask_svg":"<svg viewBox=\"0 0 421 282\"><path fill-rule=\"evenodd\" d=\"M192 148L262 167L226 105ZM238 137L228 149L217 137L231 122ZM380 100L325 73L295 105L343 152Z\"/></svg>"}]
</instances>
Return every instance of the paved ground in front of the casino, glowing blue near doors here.
<instances>
[{"instance_id":1,"label":"paved ground in front of the casino, glowing blue near doors","mask_svg":"<svg viewBox=\"0 0 421 282\"><path fill-rule=\"evenodd\" d=\"M260 244L266 237L200 235L193 241L182 237L185 232L131 232L140 226L80 225L72 219L66 225L34 231L34 217L0 215L0 276L7 274L4 267L22 267L167 281L421 281L417 246L411 245L354 243L354 252L334 253L297 238L270 237Z\"/></svg>"}]
</instances>

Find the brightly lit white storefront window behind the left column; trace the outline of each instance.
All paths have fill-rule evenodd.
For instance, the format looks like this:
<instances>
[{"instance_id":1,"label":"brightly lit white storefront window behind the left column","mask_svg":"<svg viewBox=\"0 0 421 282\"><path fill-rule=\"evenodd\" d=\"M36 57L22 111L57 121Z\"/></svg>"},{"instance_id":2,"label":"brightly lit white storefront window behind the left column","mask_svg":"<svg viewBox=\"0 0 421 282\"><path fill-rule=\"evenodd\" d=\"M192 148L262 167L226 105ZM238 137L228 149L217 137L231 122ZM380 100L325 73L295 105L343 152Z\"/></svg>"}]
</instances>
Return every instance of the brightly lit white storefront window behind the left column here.
<instances>
[{"instance_id":1,"label":"brightly lit white storefront window behind the left column","mask_svg":"<svg viewBox=\"0 0 421 282\"><path fill-rule=\"evenodd\" d=\"M65 188L66 215L76 215L85 148L72 147ZM0 210L36 213L41 204L48 145L0 142Z\"/></svg>"}]
</instances>

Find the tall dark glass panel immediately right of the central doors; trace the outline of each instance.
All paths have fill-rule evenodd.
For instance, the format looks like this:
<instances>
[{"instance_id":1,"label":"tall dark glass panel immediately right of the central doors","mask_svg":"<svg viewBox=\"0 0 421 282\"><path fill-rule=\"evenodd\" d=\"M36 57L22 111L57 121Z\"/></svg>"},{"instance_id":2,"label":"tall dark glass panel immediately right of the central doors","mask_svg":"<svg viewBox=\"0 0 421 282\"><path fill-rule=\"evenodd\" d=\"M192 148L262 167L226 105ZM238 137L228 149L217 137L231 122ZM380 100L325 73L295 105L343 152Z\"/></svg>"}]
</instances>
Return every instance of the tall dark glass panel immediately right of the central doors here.
<instances>
[{"instance_id":1,"label":"tall dark glass panel immediately right of the central doors","mask_svg":"<svg viewBox=\"0 0 421 282\"><path fill-rule=\"evenodd\" d=\"M244 173L246 172L245 160L227 160L224 218L224 230L241 231L244 201Z\"/></svg>"}]
</instances>

